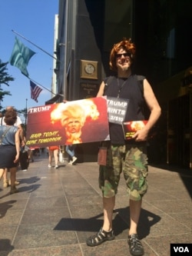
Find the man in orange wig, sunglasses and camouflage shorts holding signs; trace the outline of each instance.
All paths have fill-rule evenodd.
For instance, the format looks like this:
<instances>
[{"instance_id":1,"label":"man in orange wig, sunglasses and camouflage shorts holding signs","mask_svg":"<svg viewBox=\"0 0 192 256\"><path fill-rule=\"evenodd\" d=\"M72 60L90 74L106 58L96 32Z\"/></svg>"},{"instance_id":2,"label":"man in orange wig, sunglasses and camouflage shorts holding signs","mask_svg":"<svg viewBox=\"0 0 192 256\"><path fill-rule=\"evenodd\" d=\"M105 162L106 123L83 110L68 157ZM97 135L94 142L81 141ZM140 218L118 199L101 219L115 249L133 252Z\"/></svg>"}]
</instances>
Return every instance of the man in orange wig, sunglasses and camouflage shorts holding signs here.
<instances>
[{"instance_id":1,"label":"man in orange wig, sunglasses and camouflage shorts holding signs","mask_svg":"<svg viewBox=\"0 0 192 256\"><path fill-rule=\"evenodd\" d=\"M157 102L151 85L147 79L132 75L131 65L134 62L135 45L131 40L124 39L114 45L110 55L110 68L117 72L112 78L101 83L98 97L107 95L116 102L127 99L127 110L124 121L142 121L144 117L144 103L147 103L151 114L147 125L135 132L130 140L124 139L121 123L109 123L111 141L104 141L99 154L105 148L106 163L99 168L99 186L103 193L104 223L100 231L87 239L88 246L97 246L104 241L114 239L112 218L115 204L115 194L121 172L127 185L130 207L130 229L127 243L130 253L134 256L144 254L144 248L137 236L137 224L141 212L142 197L147 192L147 135L161 115L161 108ZM139 78L140 77L140 78Z\"/></svg>"}]
</instances>

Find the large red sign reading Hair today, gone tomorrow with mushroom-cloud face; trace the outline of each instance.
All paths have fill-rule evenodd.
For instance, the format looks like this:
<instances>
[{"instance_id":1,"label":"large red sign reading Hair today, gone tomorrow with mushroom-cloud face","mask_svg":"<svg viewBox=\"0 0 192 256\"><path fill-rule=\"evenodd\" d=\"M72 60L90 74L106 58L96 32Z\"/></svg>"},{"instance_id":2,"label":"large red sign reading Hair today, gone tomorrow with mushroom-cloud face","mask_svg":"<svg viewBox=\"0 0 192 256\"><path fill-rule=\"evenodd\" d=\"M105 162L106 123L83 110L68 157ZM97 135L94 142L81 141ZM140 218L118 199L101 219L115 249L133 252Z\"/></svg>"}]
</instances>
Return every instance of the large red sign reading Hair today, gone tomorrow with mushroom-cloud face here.
<instances>
[{"instance_id":1,"label":"large red sign reading Hair today, gone tomorrow with mushroom-cloud face","mask_svg":"<svg viewBox=\"0 0 192 256\"><path fill-rule=\"evenodd\" d=\"M72 145L109 140L107 98L88 98L28 109L26 145Z\"/></svg>"}]
</instances>

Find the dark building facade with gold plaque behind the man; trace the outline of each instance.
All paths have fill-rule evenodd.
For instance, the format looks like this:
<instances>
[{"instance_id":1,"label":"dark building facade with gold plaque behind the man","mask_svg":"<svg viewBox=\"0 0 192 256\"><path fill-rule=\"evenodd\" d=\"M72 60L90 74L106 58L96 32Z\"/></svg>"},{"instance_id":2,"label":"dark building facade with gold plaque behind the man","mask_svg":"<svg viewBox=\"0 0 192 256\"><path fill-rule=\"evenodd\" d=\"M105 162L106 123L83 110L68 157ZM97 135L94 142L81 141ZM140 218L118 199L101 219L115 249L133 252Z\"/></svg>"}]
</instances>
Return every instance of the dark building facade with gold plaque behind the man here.
<instances>
[{"instance_id":1,"label":"dark building facade with gold plaque behind the man","mask_svg":"<svg viewBox=\"0 0 192 256\"><path fill-rule=\"evenodd\" d=\"M150 159L186 168L192 168L191 9L190 0L60 0L55 68L58 94L93 98L111 75L114 43L131 38L133 71L150 81L162 108Z\"/></svg>"}]
</instances>

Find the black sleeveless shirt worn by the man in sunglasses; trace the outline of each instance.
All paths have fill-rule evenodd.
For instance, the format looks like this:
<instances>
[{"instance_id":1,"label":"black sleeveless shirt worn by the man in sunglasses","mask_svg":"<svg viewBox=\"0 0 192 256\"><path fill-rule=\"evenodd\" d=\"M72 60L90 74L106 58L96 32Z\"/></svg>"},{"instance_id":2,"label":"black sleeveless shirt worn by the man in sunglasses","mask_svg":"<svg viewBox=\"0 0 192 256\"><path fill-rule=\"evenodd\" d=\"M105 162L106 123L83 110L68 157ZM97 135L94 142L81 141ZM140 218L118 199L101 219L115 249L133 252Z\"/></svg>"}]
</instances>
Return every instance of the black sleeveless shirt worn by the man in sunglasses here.
<instances>
[{"instance_id":1,"label":"black sleeveless shirt worn by the man in sunglasses","mask_svg":"<svg viewBox=\"0 0 192 256\"><path fill-rule=\"evenodd\" d=\"M111 78L104 95L114 98L118 98L119 95L119 98L129 100L124 121L145 119L143 81L138 81L137 75L131 75L128 78ZM125 144L122 125L109 123L109 132L112 144Z\"/></svg>"}]
</instances>

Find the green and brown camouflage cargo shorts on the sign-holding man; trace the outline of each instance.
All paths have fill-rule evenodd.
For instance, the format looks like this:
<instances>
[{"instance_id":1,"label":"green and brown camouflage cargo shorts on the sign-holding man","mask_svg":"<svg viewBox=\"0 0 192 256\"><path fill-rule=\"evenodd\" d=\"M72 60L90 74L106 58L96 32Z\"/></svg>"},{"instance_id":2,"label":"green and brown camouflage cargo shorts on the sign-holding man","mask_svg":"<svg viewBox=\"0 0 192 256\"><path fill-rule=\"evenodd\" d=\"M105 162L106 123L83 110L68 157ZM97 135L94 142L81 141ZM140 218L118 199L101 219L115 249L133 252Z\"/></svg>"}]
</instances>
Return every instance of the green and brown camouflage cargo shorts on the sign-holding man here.
<instances>
[{"instance_id":1,"label":"green and brown camouflage cargo shorts on the sign-holding man","mask_svg":"<svg viewBox=\"0 0 192 256\"><path fill-rule=\"evenodd\" d=\"M141 200L147 192L146 143L108 146L107 165L99 167L99 187L105 198L118 193L121 172L124 174L129 198Z\"/></svg>"}]
</instances>

